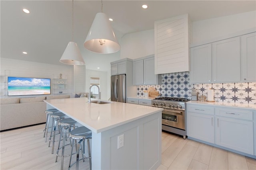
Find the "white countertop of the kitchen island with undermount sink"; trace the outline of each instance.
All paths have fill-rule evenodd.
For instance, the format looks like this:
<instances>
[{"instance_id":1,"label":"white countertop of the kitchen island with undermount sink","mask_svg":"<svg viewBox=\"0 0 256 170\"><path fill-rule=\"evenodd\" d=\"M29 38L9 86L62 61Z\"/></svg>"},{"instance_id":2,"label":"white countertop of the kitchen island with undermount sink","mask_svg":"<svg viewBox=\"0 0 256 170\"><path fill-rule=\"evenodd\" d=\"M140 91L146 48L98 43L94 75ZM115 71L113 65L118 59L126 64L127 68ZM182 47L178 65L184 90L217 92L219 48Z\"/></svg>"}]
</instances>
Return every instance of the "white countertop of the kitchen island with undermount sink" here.
<instances>
[{"instance_id":1,"label":"white countertop of the kitchen island with undermount sink","mask_svg":"<svg viewBox=\"0 0 256 170\"><path fill-rule=\"evenodd\" d=\"M105 101L111 102L109 104L88 103L86 98L52 99L44 102L94 133L100 133L163 110L158 107L112 101Z\"/></svg>"}]
</instances>

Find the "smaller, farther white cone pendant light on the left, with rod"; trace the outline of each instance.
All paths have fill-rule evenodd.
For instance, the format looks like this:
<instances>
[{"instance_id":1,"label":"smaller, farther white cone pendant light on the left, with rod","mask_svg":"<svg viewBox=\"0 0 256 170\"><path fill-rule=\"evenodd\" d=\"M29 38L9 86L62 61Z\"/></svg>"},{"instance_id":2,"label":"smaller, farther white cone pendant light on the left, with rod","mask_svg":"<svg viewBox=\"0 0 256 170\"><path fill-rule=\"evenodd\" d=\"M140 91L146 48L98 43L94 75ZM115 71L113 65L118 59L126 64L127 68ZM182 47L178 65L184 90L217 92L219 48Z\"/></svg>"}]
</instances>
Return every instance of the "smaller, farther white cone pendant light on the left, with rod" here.
<instances>
[{"instance_id":1,"label":"smaller, farther white cone pendant light on the left, with rod","mask_svg":"<svg viewBox=\"0 0 256 170\"><path fill-rule=\"evenodd\" d=\"M60 58L60 63L70 64L70 65L84 65L84 59L80 53L80 50L75 42L74 38L74 0L72 0L72 41L68 43L62 57Z\"/></svg>"}]
</instances>

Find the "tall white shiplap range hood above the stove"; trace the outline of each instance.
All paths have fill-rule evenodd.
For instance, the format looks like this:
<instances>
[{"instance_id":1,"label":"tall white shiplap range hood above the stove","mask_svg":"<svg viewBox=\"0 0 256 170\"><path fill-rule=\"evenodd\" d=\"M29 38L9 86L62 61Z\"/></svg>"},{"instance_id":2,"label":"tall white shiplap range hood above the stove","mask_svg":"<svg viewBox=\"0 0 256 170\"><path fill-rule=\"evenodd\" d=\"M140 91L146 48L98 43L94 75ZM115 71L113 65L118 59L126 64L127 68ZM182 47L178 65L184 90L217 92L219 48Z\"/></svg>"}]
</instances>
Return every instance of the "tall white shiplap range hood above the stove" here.
<instances>
[{"instance_id":1,"label":"tall white shiplap range hood above the stove","mask_svg":"<svg viewBox=\"0 0 256 170\"><path fill-rule=\"evenodd\" d=\"M155 74L189 71L188 14L155 21Z\"/></svg>"}]
</instances>

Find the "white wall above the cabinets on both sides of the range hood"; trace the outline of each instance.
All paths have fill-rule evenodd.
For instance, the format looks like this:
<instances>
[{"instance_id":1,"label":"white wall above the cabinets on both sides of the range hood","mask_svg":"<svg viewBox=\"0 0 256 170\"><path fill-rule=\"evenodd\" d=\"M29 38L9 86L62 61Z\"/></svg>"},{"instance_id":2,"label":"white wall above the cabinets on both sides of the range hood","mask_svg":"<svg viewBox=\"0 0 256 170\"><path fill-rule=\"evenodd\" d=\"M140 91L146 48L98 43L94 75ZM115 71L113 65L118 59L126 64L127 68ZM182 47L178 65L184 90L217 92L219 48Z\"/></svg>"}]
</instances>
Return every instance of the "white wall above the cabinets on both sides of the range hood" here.
<instances>
[{"instance_id":1,"label":"white wall above the cabinets on both sides of the range hood","mask_svg":"<svg viewBox=\"0 0 256 170\"><path fill-rule=\"evenodd\" d=\"M256 11L192 22L192 43L205 42L256 26ZM121 59L154 54L154 29L126 34L120 41Z\"/></svg>"}]
</instances>

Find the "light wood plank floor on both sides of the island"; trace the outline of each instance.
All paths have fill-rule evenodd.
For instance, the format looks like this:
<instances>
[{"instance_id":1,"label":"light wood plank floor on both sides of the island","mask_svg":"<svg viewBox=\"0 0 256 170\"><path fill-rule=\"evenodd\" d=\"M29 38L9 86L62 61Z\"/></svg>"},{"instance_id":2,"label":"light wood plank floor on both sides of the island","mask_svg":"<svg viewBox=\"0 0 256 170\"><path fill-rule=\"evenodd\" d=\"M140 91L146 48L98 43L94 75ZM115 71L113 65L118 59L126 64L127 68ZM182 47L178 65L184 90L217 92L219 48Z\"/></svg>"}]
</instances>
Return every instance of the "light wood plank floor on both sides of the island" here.
<instances>
[{"instance_id":1,"label":"light wood plank floor on both sides of the island","mask_svg":"<svg viewBox=\"0 0 256 170\"><path fill-rule=\"evenodd\" d=\"M60 158L42 137L43 125L0 133L1 170L59 170ZM56 145L57 146L57 145ZM56 149L55 149L56 150ZM68 157L64 169L67 169ZM75 166L72 167L75 169ZM89 169L88 161L79 169ZM162 132L162 164L158 170L256 170L256 160Z\"/></svg>"}]
</instances>

